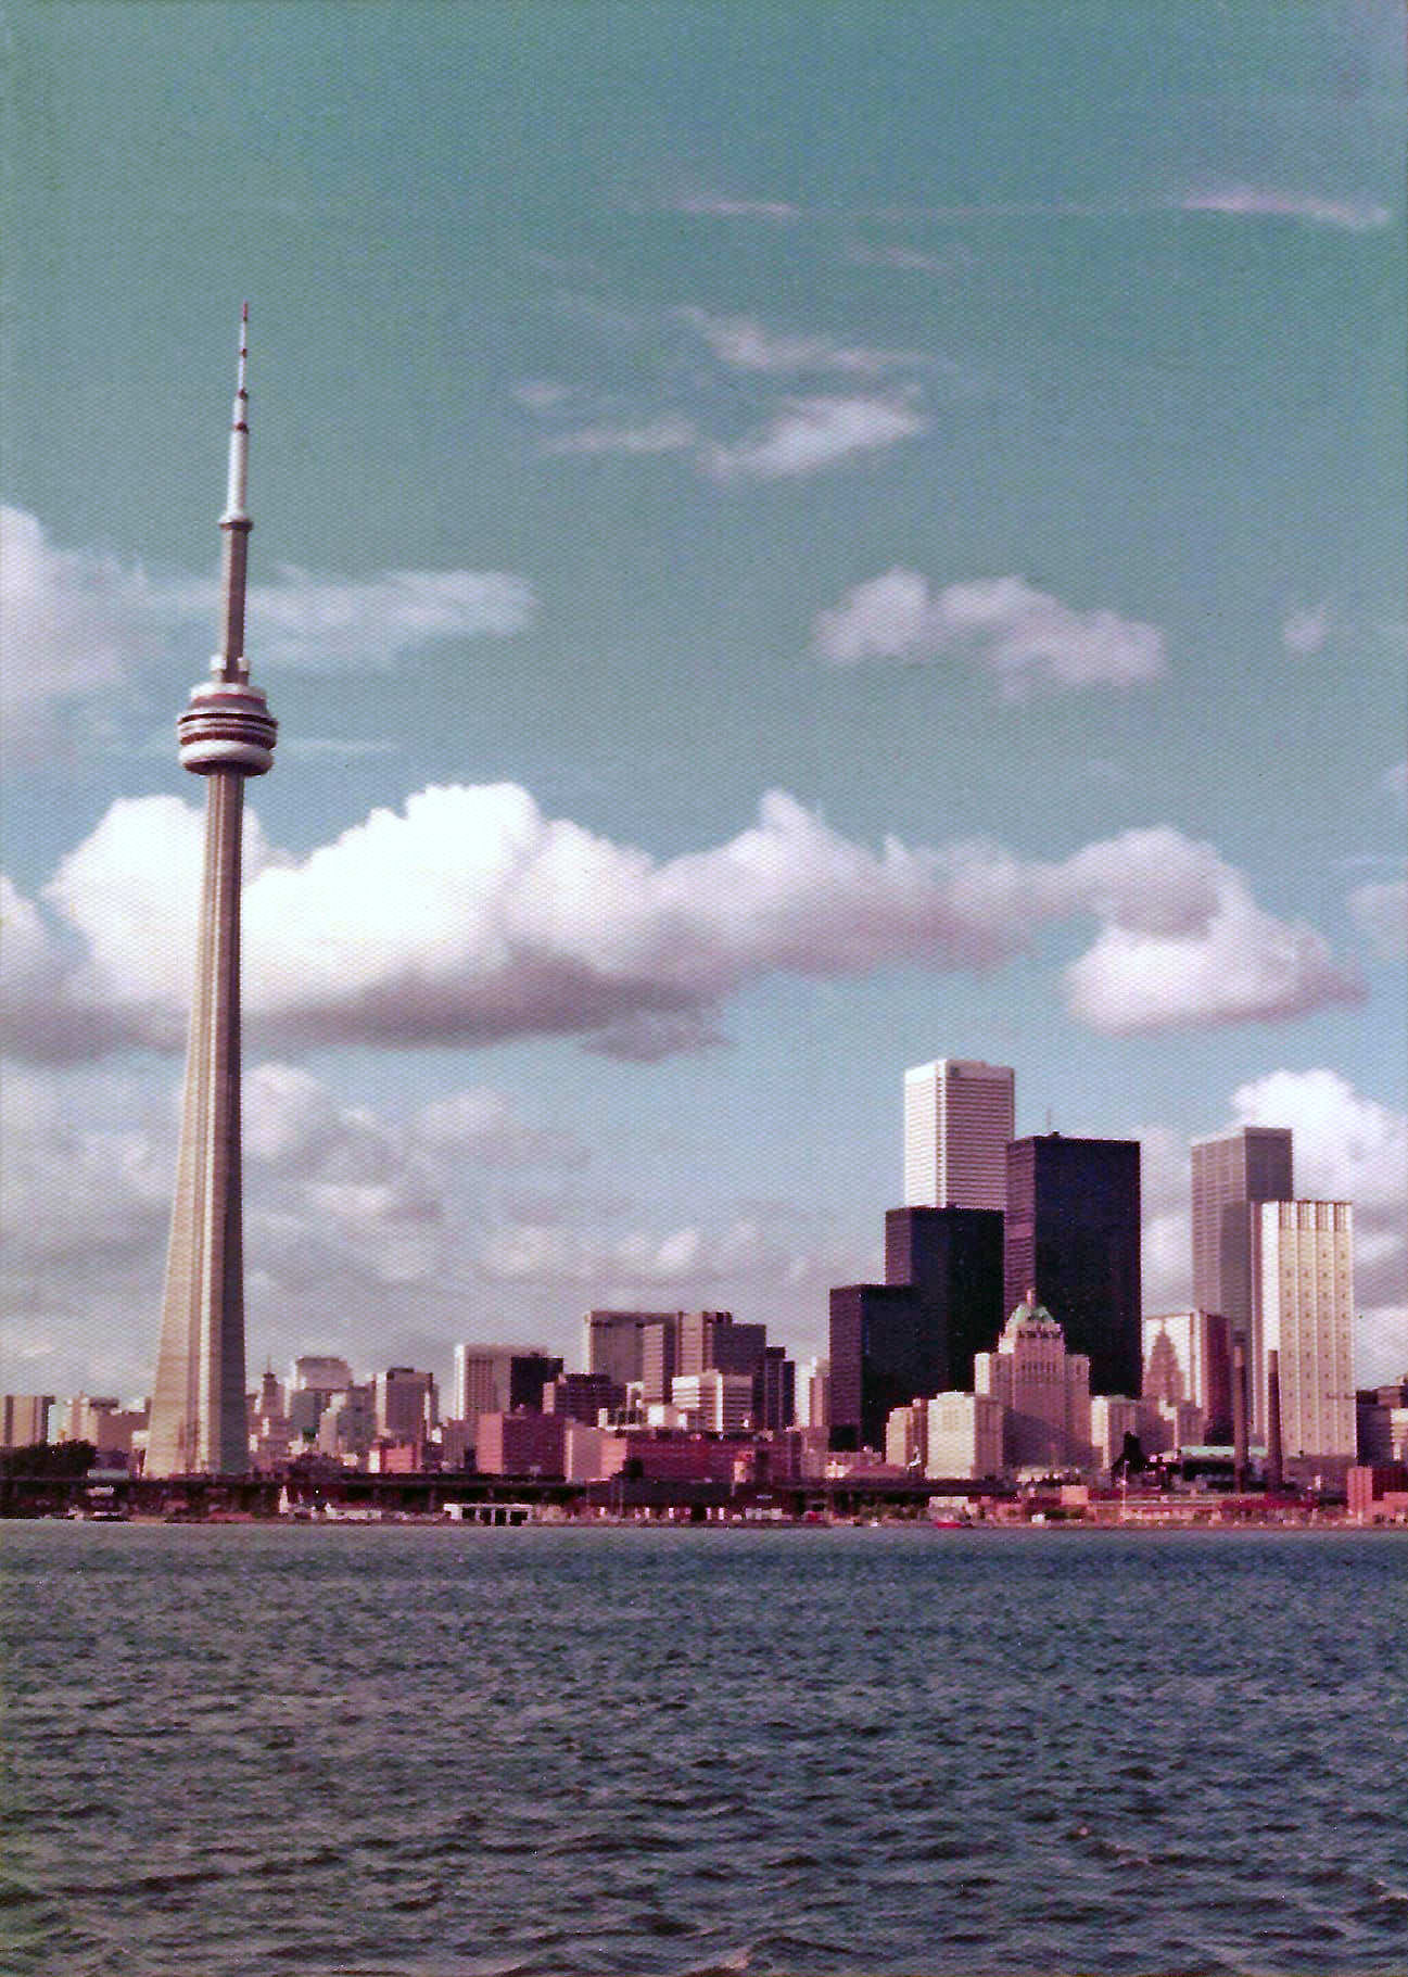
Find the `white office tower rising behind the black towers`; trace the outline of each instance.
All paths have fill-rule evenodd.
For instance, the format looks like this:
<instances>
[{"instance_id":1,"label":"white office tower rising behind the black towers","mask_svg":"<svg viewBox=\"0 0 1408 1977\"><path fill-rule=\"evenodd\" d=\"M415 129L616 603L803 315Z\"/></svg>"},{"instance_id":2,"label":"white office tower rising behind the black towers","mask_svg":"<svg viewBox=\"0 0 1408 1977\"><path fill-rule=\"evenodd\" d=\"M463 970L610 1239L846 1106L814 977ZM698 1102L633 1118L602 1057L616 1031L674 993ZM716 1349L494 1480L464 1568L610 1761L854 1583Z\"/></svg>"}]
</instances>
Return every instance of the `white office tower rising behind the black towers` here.
<instances>
[{"instance_id":1,"label":"white office tower rising behind the black towers","mask_svg":"<svg viewBox=\"0 0 1408 1977\"><path fill-rule=\"evenodd\" d=\"M939 1058L904 1074L904 1206L1007 1208L1007 1064Z\"/></svg>"}]
</instances>

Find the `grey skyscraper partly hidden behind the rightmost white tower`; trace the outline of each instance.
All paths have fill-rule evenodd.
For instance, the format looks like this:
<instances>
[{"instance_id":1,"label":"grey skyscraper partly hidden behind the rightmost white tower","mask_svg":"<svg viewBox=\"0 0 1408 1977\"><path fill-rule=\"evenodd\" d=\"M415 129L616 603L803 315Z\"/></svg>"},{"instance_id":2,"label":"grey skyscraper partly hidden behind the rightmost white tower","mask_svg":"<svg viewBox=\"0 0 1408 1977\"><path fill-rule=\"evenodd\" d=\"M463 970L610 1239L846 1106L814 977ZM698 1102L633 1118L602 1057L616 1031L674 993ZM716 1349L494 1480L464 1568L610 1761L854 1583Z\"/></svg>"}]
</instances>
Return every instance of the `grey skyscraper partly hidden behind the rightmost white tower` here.
<instances>
[{"instance_id":1,"label":"grey skyscraper partly hidden behind the rightmost white tower","mask_svg":"<svg viewBox=\"0 0 1408 1977\"><path fill-rule=\"evenodd\" d=\"M1244 1125L1192 1141L1192 1303L1228 1321L1234 1338L1252 1323L1248 1202L1289 1202L1291 1131Z\"/></svg>"}]
</instances>

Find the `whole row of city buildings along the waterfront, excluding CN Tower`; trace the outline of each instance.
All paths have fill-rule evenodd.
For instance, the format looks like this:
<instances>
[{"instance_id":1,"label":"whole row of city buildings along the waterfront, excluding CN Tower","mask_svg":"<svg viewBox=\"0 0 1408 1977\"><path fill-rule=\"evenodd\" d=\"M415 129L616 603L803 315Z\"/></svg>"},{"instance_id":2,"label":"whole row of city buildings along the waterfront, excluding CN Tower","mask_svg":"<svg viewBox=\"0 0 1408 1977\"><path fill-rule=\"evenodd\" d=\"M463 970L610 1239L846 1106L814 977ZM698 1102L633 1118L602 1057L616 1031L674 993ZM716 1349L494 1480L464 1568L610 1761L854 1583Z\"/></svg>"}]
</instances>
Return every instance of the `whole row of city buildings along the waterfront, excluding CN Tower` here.
<instances>
[{"instance_id":1,"label":"whole row of city buildings along the waterfront, excluding CN Tower","mask_svg":"<svg viewBox=\"0 0 1408 1977\"><path fill-rule=\"evenodd\" d=\"M1295 1198L1287 1129L1194 1141L1188 1311L1141 1311L1139 1145L1016 1139L1007 1066L906 1072L904 1192L884 1283L831 1291L829 1358L801 1374L732 1311L587 1311L579 1370L463 1340L445 1394L423 1368L303 1354L247 1396L249 1469L963 1487L1224 1459L1345 1487L1357 1461L1408 1465L1408 1378L1355 1390L1353 1208ZM6 1449L87 1441L142 1467L148 1406L2 1408Z\"/></svg>"}]
</instances>

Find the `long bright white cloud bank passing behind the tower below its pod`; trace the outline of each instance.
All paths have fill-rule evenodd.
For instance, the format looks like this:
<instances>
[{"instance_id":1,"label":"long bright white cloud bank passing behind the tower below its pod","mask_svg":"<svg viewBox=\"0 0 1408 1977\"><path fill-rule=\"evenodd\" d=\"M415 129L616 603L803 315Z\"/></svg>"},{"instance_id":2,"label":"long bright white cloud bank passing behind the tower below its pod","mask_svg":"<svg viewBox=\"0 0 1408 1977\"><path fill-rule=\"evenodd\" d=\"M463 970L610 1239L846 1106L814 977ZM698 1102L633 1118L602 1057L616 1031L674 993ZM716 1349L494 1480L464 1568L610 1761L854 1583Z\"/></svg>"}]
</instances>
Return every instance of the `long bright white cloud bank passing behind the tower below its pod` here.
<instances>
[{"instance_id":1,"label":"long bright white cloud bank passing behind the tower below its pod","mask_svg":"<svg viewBox=\"0 0 1408 1977\"><path fill-rule=\"evenodd\" d=\"M1084 919L1096 939L1066 973L1068 1006L1111 1034L1361 992L1321 935L1167 826L1062 862L985 842L872 850L773 791L738 836L660 864L488 785L419 791L303 860L247 828L245 1008L291 1042L556 1034L649 1060L716 1042L720 1004L769 975L989 969ZM16 902L12 1048L178 1040L198 838L174 799L119 803L45 888L47 919Z\"/></svg>"}]
</instances>

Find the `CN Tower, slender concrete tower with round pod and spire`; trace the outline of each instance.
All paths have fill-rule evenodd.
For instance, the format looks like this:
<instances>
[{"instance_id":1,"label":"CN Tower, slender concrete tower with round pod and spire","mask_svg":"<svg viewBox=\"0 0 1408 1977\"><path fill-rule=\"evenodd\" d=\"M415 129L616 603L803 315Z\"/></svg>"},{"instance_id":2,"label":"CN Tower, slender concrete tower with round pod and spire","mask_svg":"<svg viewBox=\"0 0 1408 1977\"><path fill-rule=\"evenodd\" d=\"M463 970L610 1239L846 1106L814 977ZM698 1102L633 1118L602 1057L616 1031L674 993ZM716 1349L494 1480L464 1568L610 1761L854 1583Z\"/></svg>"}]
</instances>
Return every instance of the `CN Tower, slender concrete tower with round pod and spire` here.
<instances>
[{"instance_id":1,"label":"CN Tower, slender concrete tower with round pod and spire","mask_svg":"<svg viewBox=\"0 0 1408 1977\"><path fill-rule=\"evenodd\" d=\"M239 832L245 777L273 765L277 724L249 684L249 304L239 320L239 384L229 431L221 558L221 637L210 680L192 688L178 728L182 769L206 779L196 992L166 1255L146 1473L243 1475L245 1263L239 1176Z\"/></svg>"}]
</instances>

